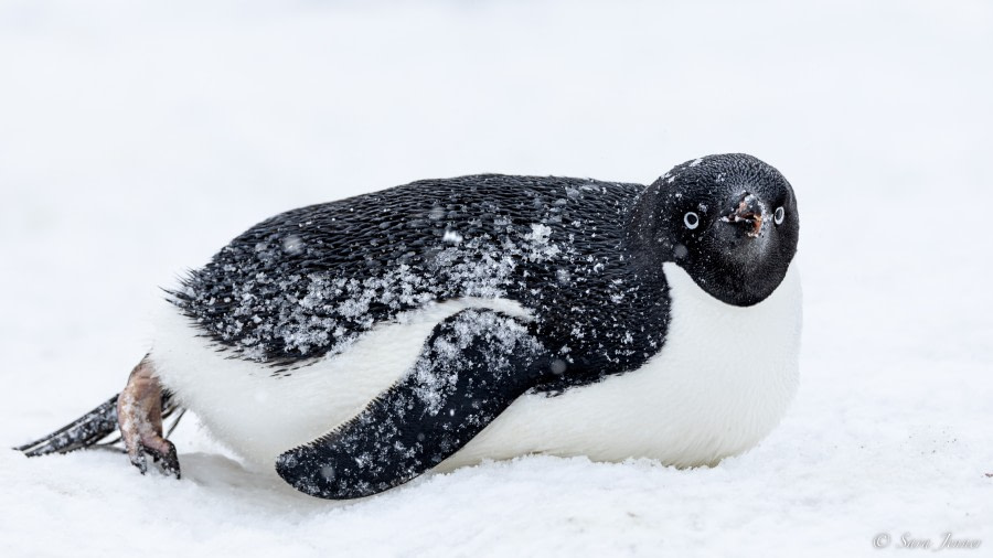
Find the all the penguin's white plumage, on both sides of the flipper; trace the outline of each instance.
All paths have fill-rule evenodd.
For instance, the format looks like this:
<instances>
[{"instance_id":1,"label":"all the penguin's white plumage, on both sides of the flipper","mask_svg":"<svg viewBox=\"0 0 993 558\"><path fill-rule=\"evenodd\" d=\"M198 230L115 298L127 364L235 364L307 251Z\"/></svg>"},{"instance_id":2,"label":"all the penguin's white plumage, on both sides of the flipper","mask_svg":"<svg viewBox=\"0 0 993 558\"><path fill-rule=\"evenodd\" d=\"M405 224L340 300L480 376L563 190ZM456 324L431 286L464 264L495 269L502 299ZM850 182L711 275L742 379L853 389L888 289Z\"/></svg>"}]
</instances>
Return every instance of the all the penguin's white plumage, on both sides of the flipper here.
<instances>
[{"instance_id":1,"label":"all the penguin's white plumage, on both sides of the flipper","mask_svg":"<svg viewBox=\"0 0 993 558\"><path fill-rule=\"evenodd\" d=\"M709 464L755 446L797 389L801 326L798 272L759 304L739 308L704 292L674 264L664 271L672 321L644 366L557 397L517 399L439 470L526 453L631 457ZM354 417L394 385L438 322L467 308L530 319L502 299L433 303L374 328L331 357L274 375L218 352L171 304L157 318L151 360L162 384L222 442L266 468Z\"/></svg>"}]
</instances>

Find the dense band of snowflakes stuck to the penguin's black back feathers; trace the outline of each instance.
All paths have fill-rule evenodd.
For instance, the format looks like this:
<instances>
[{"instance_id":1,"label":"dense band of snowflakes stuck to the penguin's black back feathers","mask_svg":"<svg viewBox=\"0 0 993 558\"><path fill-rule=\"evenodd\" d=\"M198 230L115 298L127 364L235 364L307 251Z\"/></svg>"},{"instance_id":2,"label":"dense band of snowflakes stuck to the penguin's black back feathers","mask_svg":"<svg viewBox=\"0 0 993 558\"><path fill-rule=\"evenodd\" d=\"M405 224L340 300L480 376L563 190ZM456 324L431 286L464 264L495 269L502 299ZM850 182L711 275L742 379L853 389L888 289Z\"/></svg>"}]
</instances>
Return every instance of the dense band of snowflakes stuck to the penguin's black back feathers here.
<instances>
[{"instance_id":1,"label":"dense band of snowflakes stuck to the penguin's black back feathers","mask_svg":"<svg viewBox=\"0 0 993 558\"><path fill-rule=\"evenodd\" d=\"M499 244L493 238L466 239L446 230L420 269L401 264L364 279L316 271L277 281L269 273L257 272L233 286L228 297L231 312L211 325L223 341L235 344L242 357L252 361L265 362L267 348L274 343L291 355L307 356L318 350L333 354L374 325L373 308L385 308L396 315L452 294L506 296L506 285L520 262L552 261L563 253L552 236L552 228L542 224L531 225L527 233L516 238L504 235ZM259 254L263 261L273 257L266 250ZM233 267L225 265L223 270L232 272ZM183 292L203 307L212 307L216 299L211 291L197 290L195 283ZM260 315L275 320L263 320ZM199 318L201 323L213 319Z\"/></svg>"}]
</instances>

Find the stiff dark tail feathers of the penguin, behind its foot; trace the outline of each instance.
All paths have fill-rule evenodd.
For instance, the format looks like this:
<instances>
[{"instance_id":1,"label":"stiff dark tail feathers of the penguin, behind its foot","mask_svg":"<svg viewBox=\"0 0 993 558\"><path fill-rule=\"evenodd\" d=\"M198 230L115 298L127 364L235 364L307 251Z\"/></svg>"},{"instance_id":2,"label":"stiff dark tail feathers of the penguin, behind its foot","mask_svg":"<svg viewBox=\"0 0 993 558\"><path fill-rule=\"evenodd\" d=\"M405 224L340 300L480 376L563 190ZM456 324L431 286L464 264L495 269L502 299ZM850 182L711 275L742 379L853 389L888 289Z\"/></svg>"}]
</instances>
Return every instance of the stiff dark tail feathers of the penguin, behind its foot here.
<instances>
[{"instance_id":1,"label":"stiff dark tail feathers of the penguin, behind its foot","mask_svg":"<svg viewBox=\"0 0 993 558\"><path fill-rule=\"evenodd\" d=\"M50 453L68 453L85 448L108 449L124 452L117 422L117 398L120 394L104 401L99 407L83 415L73 422L33 442L19 446L14 450L29 458ZM162 419L175 415L166 437L179 425L185 409L177 405L169 391L162 393ZM111 438L113 437L113 438Z\"/></svg>"}]
</instances>

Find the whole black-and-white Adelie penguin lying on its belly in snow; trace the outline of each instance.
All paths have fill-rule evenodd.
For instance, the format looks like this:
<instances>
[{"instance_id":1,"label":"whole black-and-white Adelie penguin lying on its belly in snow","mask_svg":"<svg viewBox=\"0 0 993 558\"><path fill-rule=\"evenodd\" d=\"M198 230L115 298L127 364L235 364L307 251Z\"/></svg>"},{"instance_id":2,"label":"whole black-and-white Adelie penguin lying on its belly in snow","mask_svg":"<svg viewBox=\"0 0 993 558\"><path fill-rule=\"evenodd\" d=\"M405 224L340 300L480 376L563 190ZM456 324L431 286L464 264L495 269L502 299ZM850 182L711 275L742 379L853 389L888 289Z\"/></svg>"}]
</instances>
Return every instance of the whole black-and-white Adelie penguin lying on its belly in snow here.
<instances>
[{"instance_id":1,"label":"whole black-and-white Adelie penguin lying on its belly in snow","mask_svg":"<svg viewBox=\"0 0 993 558\"><path fill-rule=\"evenodd\" d=\"M324 498L527 453L714 464L798 380L799 215L746 154L649 186L483 174L271 217L170 291L125 389L29 455L120 429L177 476L163 415Z\"/></svg>"}]
</instances>

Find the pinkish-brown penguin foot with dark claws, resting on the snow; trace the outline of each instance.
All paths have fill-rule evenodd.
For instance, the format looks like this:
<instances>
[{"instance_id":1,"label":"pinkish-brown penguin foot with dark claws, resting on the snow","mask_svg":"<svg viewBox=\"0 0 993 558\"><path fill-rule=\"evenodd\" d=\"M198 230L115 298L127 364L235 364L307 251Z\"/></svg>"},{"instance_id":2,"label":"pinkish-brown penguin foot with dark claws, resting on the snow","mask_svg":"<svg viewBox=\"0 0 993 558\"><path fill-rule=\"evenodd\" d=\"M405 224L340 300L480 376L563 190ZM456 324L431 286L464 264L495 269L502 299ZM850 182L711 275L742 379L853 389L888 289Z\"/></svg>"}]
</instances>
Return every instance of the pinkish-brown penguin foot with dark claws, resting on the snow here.
<instances>
[{"instance_id":1,"label":"pinkish-brown penguin foot with dark claws, resting on the snow","mask_svg":"<svg viewBox=\"0 0 993 558\"><path fill-rule=\"evenodd\" d=\"M141 474L148 471L151 455L153 462L161 462L166 474L180 477L175 446L162 436L162 384L148 356L131 371L118 397L117 420L128 459Z\"/></svg>"}]
</instances>

